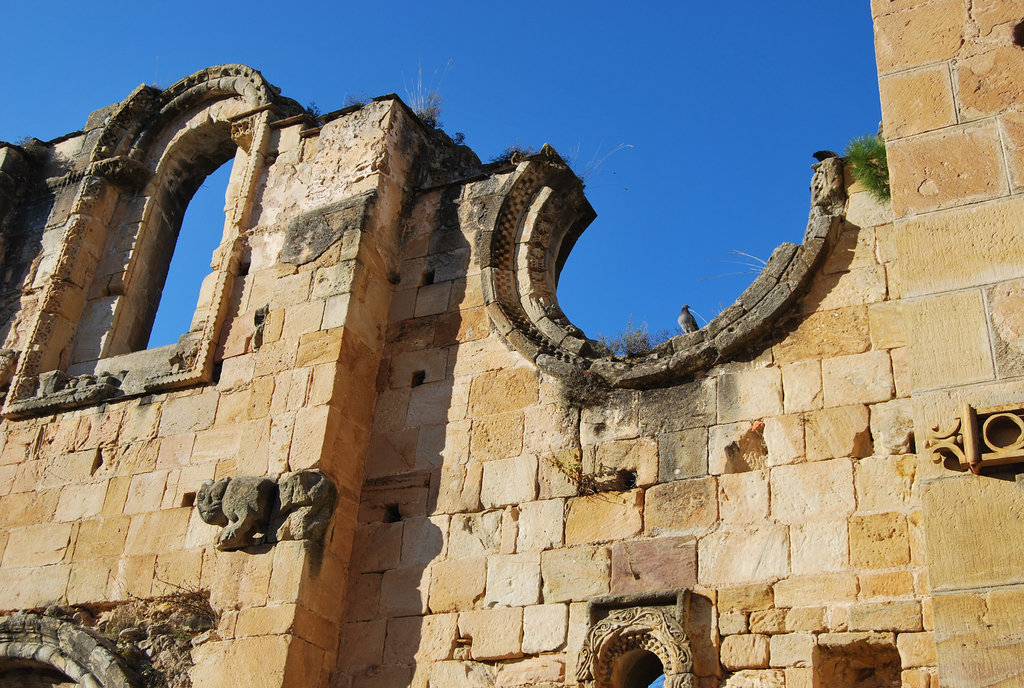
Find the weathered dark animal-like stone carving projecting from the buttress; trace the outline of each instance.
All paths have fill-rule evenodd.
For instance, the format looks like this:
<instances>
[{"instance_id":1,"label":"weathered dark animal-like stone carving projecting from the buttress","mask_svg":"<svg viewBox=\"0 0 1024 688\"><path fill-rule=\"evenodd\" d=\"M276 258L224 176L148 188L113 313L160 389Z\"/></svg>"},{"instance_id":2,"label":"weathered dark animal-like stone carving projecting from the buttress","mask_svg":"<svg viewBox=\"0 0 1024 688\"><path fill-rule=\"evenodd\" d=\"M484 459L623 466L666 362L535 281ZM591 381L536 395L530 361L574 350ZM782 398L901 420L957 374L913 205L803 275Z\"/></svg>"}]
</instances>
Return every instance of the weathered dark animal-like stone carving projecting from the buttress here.
<instances>
[{"instance_id":1,"label":"weathered dark animal-like stone carving projecting from the buttress","mask_svg":"<svg viewBox=\"0 0 1024 688\"><path fill-rule=\"evenodd\" d=\"M196 507L204 522L224 526L218 550L240 550L262 542L319 539L331 521L336 494L319 471L300 471L280 484L253 476L207 480Z\"/></svg>"}]
</instances>

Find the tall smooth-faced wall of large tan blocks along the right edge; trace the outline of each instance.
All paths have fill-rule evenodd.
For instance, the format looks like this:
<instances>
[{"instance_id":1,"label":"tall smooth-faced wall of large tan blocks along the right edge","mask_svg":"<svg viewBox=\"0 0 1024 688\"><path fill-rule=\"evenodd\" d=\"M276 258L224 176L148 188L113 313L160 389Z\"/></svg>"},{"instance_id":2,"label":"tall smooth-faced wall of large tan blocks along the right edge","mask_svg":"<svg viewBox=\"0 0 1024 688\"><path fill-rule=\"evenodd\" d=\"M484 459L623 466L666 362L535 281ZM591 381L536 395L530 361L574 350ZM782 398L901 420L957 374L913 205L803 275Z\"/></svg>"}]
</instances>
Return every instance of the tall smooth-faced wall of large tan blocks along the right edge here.
<instances>
[{"instance_id":1,"label":"tall smooth-faced wall of large tan blocks along the right edge","mask_svg":"<svg viewBox=\"0 0 1024 688\"><path fill-rule=\"evenodd\" d=\"M949 453L945 466L920 465L939 676L943 686L1017 685L1019 465L986 467L986 428L999 421L982 421L986 408L1024 405L1024 8L1010 0L871 5L919 442L931 434L970 443L970 404L988 454L977 475L952 470L959 462Z\"/></svg>"}]
</instances>

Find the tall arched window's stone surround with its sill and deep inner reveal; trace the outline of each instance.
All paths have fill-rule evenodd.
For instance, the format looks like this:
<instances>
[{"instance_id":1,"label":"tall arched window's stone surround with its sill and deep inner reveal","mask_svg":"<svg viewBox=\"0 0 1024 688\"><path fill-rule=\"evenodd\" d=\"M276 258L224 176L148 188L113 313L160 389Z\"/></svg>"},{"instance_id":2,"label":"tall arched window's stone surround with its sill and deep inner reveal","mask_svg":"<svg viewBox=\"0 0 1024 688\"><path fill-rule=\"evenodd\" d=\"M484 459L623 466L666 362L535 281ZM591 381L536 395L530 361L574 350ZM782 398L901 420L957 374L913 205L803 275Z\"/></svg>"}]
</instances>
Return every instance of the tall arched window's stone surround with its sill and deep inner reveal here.
<instances>
[{"instance_id":1,"label":"tall arched window's stone surround with its sill and deep inner reveal","mask_svg":"<svg viewBox=\"0 0 1024 688\"><path fill-rule=\"evenodd\" d=\"M100 133L59 250L47 265L5 416L210 378L251 198L265 165L261 154L269 124L300 112L259 72L240 64L203 70L164 90L140 86L119 105ZM154 289L134 283L154 252L173 246L177 226L172 225L180 222L196 187L236 149L241 153L231 175L233 203L225 209L224 234L193 330L173 351L159 354L162 361L113 360L143 353L139 342L144 346L156 309L145 299ZM155 218L166 215L168 205L177 216L164 220L164 227ZM97 362L88 371L69 370L90 360ZM145 372L131 379L122 373L133 369ZM75 379L83 373L88 379Z\"/></svg>"}]
</instances>

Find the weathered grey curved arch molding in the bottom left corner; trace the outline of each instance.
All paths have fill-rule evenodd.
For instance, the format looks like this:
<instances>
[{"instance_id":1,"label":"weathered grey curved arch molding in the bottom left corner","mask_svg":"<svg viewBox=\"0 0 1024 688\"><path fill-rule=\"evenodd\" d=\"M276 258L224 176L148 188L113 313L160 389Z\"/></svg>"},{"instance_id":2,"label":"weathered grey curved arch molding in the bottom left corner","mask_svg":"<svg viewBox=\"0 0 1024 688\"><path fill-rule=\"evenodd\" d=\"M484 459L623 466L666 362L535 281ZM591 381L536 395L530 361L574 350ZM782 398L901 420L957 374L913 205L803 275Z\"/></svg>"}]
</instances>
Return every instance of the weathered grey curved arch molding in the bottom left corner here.
<instances>
[{"instance_id":1,"label":"weathered grey curved arch molding in the bottom left corner","mask_svg":"<svg viewBox=\"0 0 1024 688\"><path fill-rule=\"evenodd\" d=\"M18 613L0 618L0 671L39 666L89 688L138 688L114 643L69 621Z\"/></svg>"}]
</instances>

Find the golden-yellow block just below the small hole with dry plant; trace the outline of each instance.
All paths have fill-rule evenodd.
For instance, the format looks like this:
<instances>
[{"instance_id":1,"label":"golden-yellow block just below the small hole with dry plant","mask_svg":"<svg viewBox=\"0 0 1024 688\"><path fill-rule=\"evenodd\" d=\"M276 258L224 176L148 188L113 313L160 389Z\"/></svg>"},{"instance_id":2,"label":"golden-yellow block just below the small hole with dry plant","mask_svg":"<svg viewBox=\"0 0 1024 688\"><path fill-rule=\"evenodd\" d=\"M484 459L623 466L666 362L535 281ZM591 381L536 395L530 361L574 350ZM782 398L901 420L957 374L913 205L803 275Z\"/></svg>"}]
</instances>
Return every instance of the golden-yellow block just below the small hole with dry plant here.
<instances>
[{"instance_id":1,"label":"golden-yellow block just below the small hole with dry plant","mask_svg":"<svg viewBox=\"0 0 1024 688\"><path fill-rule=\"evenodd\" d=\"M644 496L639 489L570 499L565 515L565 544L581 545L635 535L643 525L643 508Z\"/></svg>"}]
</instances>

